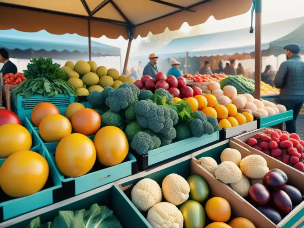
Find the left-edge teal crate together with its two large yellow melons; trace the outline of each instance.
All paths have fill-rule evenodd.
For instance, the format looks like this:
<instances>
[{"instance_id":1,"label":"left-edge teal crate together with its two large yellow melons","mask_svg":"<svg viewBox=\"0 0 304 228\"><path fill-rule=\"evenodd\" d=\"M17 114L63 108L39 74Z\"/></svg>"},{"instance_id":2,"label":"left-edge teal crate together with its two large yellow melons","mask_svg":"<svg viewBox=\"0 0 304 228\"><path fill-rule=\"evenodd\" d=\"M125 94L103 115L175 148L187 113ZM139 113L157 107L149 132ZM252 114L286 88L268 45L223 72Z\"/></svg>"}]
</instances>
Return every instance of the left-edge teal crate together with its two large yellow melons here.
<instances>
[{"instance_id":1,"label":"left-edge teal crate together with its two large yellow melons","mask_svg":"<svg viewBox=\"0 0 304 228\"><path fill-rule=\"evenodd\" d=\"M35 130L28 121L22 126L16 114L19 124L12 123L12 114L11 123L0 126L0 222L63 199L62 183Z\"/></svg>"}]
</instances>

